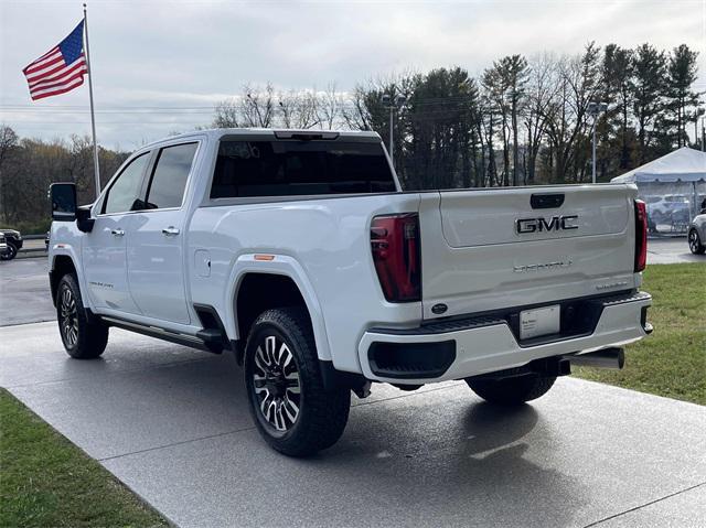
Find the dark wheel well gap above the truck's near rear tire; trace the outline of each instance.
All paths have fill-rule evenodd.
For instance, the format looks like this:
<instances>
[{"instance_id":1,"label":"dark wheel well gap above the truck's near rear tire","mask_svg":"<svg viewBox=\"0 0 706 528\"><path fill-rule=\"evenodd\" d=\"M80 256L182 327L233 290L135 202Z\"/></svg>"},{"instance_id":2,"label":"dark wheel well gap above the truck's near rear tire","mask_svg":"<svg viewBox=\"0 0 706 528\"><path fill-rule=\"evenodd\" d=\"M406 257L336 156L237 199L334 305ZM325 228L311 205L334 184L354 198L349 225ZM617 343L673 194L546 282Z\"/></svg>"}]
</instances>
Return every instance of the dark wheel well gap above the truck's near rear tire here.
<instances>
[{"instance_id":1,"label":"dark wheel well gap above the truck's near rear tire","mask_svg":"<svg viewBox=\"0 0 706 528\"><path fill-rule=\"evenodd\" d=\"M240 281L235 300L235 317L240 343L245 344L250 326L266 310L303 306L304 298L291 278L274 273L247 273ZM309 311L307 310L307 314Z\"/></svg>"}]
</instances>

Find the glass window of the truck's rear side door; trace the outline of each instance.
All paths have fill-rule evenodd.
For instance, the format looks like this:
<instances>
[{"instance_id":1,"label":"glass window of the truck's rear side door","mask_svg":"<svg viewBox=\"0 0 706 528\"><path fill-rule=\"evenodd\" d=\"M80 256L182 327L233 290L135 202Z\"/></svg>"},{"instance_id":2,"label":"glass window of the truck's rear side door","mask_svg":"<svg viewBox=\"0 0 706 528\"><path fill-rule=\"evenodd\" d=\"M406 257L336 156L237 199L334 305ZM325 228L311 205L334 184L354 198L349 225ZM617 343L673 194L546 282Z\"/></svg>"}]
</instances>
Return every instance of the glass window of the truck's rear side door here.
<instances>
[{"instance_id":1,"label":"glass window of the truck's rear side door","mask_svg":"<svg viewBox=\"0 0 706 528\"><path fill-rule=\"evenodd\" d=\"M147 191L146 208L181 207L197 146L199 143L175 144L159 152Z\"/></svg>"}]
</instances>

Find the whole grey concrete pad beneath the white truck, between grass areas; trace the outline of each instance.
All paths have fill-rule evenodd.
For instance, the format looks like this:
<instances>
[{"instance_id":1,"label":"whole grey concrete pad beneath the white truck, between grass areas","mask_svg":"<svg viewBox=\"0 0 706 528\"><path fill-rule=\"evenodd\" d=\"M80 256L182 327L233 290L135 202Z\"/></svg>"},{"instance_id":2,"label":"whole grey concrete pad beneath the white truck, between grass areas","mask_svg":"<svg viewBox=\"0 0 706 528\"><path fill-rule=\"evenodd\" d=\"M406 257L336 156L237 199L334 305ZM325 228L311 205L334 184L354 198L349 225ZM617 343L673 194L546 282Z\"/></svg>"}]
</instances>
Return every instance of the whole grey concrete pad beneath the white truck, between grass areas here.
<instances>
[{"instance_id":1,"label":"whole grey concrete pad beneath the white truck, between grass areas","mask_svg":"<svg viewBox=\"0 0 706 528\"><path fill-rule=\"evenodd\" d=\"M1 384L179 526L706 518L700 406L573 378L515 410L463 382L374 386L335 446L291 460L259 439L229 355L113 330L105 360L77 362L52 325L17 328L0 328Z\"/></svg>"}]
</instances>

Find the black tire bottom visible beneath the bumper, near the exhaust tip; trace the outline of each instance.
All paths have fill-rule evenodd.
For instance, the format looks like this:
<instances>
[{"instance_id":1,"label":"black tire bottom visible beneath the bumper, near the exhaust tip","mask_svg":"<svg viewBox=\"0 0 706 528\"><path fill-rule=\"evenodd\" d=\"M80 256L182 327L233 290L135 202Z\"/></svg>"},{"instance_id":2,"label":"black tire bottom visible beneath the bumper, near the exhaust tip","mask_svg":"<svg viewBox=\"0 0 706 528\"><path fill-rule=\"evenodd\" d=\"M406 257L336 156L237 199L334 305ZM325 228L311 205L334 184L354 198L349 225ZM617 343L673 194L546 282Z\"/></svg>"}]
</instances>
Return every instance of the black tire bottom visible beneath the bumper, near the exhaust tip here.
<instances>
[{"instance_id":1,"label":"black tire bottom visible beneath the bumper, near the exhaust tip","mask_svg":"<svg viewBox=\"0 0 706 528\"><path fill-rule=\"evenodd\" d=\"M555 376L528 374L514 378L467 378L466 382L478 396L491 403L518 406L547 394L556 381Z\"/></svg>"}]
</instances>

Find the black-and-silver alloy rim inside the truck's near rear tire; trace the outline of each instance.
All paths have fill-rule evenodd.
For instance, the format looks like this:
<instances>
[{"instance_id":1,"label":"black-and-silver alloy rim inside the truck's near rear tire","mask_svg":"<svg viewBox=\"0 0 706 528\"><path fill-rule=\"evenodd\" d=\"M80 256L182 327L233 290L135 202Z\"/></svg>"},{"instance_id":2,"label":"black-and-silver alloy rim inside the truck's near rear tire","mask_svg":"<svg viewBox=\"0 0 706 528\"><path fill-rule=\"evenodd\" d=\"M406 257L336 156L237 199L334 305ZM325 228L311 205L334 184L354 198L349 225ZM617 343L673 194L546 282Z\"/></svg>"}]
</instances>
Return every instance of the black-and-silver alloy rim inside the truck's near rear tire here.
<instances>
[{"instance_id":1,"label":"black-and-silver alloy rim inside the truck's near rear tire","mask_svg":"<svg viewBox=\"0 0 706 528\"><path fill-rule=\"evenodd\" d=\"M255 349L253 386L265 421L279 432L289 431L301 408L299 369L287 343L276 335L265 335Z\"/></svg>"}]
</instances>

